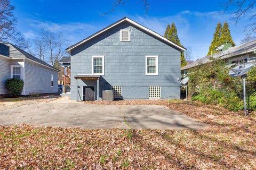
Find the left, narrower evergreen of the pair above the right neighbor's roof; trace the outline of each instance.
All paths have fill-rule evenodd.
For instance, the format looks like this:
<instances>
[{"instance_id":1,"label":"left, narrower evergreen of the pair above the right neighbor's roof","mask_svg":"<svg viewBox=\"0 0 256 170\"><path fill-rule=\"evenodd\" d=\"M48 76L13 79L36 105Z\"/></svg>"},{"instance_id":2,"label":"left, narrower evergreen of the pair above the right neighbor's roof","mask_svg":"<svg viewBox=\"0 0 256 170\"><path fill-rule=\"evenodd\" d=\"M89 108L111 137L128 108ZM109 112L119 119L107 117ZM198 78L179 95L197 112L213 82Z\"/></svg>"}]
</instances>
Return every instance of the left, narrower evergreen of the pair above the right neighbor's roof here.
<instances>
[{"instance_id":1,"label":"left, narrower evergreen of the pair above the right neighbor's roof","mask_svg":"<svg viewBox=\"0 0 256 170\"><path fill-rule=\"evenodd\" d=\"M216 48L219 47L221 45L220 42L220 37L221 37L221 30L222 30L222 25L219 22L216 26L215 32L213 34L213 40L212 43L209 47L209 52L207 55L211 55L211 52L214 54L216 53Z\"/></svg>"}]
</instances>

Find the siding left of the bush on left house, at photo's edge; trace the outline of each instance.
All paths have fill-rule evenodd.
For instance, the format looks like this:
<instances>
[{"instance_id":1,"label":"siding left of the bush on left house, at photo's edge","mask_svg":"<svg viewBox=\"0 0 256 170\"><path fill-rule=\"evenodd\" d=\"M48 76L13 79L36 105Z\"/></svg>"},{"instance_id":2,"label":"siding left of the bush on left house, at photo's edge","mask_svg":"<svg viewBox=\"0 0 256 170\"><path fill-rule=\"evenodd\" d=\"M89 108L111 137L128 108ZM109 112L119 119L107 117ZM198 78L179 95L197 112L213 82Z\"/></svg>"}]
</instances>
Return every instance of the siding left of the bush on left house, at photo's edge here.
<instances>
[{"instance_id":1,"label":"siding left of the bush on left house, at photo's edge","mask_svg":"<svg viewBox=\"0 0 256 170\"><path fill-rule=\"evenodd\" d=\"M5 81L10 78L10 60L0 56L0 95L7 94Z\"/></svg>"}]
</instances>

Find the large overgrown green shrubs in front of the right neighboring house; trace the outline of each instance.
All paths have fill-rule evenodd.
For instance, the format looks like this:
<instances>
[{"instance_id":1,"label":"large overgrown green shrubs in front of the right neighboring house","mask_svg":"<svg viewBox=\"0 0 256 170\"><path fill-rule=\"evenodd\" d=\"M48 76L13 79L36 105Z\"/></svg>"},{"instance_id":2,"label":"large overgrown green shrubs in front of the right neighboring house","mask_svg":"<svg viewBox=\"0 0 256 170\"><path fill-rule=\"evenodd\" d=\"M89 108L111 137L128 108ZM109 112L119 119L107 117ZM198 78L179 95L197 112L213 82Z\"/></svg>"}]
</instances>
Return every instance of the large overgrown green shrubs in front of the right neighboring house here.
<instances>
[{"instance_id":1,"label":"large overgrown green shrubs in front of the right neighboring house","mask_svg":"<svg viewBox=\"0 0 256 170\"><path fill-rule=\"evenodd\" d=\"M230 111L243 106L243 84L239 77L230 77L226 61L212 59L211 63L189 70L188 88L192 100L204 104L219 105ZM256 67L247 75L246 93L250 97L250 109L256 110Z\"/></svg>"}]
</instances>

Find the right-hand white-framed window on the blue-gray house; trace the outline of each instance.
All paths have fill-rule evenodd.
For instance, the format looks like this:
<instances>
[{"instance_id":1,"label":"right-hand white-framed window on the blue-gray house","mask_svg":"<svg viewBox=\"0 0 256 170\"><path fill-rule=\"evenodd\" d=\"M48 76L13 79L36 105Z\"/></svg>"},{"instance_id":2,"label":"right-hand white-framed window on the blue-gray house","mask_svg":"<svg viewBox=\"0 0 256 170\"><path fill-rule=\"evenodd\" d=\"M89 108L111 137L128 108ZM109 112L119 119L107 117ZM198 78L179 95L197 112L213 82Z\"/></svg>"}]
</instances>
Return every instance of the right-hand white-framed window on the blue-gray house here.
<instances>
[{"instance_id":1,"label":"right-hand white-framed window on the blue-gray house","mask_svg":"<svg viewBox=\"0 0 256 170\"><path fill-rule=\"evenodd\" d=\"M146 56L146 75L158 75L158 56Z\"/></svg>"}]
</instances>

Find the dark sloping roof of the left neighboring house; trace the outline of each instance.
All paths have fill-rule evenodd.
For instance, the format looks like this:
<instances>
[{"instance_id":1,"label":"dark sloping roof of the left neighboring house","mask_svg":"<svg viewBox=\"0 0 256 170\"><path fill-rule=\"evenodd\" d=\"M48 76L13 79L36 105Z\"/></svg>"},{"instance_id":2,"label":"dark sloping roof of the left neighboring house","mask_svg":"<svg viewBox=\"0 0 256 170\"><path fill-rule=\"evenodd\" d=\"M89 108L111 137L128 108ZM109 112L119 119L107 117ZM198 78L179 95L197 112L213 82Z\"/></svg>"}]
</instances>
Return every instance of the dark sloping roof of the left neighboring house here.
<instances>
[{"instance_id":1,"label":"dark sloping roof of the left neighboring house","mask_svg":"<svg viewBox=\"0 0 256 170\"><path fill-rule=\"evenodd\" d=\"M12 46L13 48L17 49L17 50L18 50L23 56L25 56L26 58L28 58L28 59L30 59L30 60L32 60L32 61L34 61L34 62L37 62L37 63L39 63L39 64L45 65L45 66L47 66L47 67L50 67L50 68L53 69L53 70L59 71L58 69L54 68L54 67L51 66L50 64L45 63L44 61L40 60L39 58L37 58L37 57L35 57L35 56L33 56L33 55L31 55L31 54L25 52L24 50L20 49L19 47L15 46L15 45L13 45L13 44L11 44L11 43L0 43L0 44L5 45L5 46L8 46L8 47L9 47L9 46ZM2 46L2 45L1 45L1 46ZM0 47L0 48L1 48L1 47ZM10 50L10 47L8 48L8 53L9 53L8 56L9 56L9 57L11 57L11 58L17 58L17 57L19 57L18 55L12 55L12 54L10 54L9 50Z\"/></svg>"}]
</instances>

